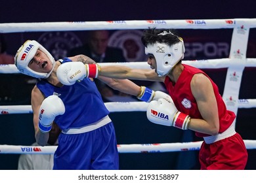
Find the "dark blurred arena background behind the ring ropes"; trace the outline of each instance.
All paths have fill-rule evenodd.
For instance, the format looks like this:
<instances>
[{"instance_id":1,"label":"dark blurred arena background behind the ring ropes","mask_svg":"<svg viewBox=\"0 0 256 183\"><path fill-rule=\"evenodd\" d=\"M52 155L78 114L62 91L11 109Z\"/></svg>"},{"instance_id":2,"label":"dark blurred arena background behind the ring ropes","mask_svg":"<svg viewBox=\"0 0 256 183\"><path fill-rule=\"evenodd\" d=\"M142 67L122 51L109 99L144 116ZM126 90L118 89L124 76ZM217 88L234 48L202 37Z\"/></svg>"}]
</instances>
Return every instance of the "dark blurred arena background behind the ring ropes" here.
<instances>
[{"instance_id":1,"label":"dark blurred arena background behind the ring ropes","mask_svg":"<svg viewBox=\"0 0 256 183\"><path fill-rule=\"evenodd\" d=\"M0 24L18 22L85 22L110 20L203 20L256 18L255 1L2 1ZM126 61L146 61L140 43L142 30L111 30L109 46L121 48ZM180 29L188 59L228 58L232 29ZM88 41L87 31L2 33L7 54L13 56L27 39L35 39L51 51L55 59L68 56L72 48ZM256 58L256 31L251 29L247 58ZM133 44L133 56L127 54L123 41ZM204 70L224 89L226 69ZM245 68L240 99L256 99L255 67ZM30 92L35 81L20 74L0 74L0 105L30 105ZM142 83L143 84L143 83ZM145 83L147 85L148 83ZM150 85L150 84L148 84ZM160 87L160 86L158 86ZM236 131L243 139L256 140L256 109L239 109ZM145 112L110 114L118 144L202 141L191 131L151 124ZM0 115L0 144L30 145L33 137L32 114ZM256 169L256 150L248 150L246 169ZM119 154L120 169L199 169L198 151L154 154ZM0 169L17 169L19 154L0 154Z\"/></svg>"}]
</instances>

